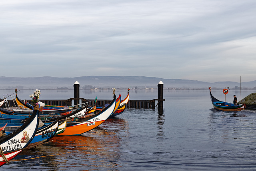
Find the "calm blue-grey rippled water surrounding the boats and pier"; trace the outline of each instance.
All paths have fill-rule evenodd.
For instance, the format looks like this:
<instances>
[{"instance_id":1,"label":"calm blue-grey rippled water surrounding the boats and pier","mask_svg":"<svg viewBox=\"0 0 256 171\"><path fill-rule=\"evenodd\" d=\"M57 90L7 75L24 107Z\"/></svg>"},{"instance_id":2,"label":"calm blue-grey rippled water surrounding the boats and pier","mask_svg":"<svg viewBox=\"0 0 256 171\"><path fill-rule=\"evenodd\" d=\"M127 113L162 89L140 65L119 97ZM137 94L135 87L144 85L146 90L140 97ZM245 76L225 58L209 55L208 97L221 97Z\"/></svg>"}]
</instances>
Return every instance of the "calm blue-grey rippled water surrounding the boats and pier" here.
<instances>
[{"instance_id":1,"label":"calm blue-grey rippled water surrounding the boats and pier","mask_svg":"<svg viewBox=\"0 0 256 171\"><path fill-rule=\"evenodd\" d=\"M68 99L74 95L72 90L41 92L42 99ZM116 93L126 97L125 90ZM226 101L232 102L233 94L239 100L239 93L230 90ZM250 93L253 91L242 91L241 99ZM18 92L21 99L28 99L25 96L29 94L29 90ZM221 90L212 90L212 94L225 99ZM86 99L96 95L98 99L111 99L112 91L80 90L80 97ZM157 90L130 90L130 99L155 98ZM236 112L238 117L233 117L232 112L215 111L208 90L164 90L164 98L162 112L126 109L81 136L54 137L50 143L22 151L14 159L29 160L13 161L0 170L256 169L256 111Z\"/></svg>"}]
</instances>

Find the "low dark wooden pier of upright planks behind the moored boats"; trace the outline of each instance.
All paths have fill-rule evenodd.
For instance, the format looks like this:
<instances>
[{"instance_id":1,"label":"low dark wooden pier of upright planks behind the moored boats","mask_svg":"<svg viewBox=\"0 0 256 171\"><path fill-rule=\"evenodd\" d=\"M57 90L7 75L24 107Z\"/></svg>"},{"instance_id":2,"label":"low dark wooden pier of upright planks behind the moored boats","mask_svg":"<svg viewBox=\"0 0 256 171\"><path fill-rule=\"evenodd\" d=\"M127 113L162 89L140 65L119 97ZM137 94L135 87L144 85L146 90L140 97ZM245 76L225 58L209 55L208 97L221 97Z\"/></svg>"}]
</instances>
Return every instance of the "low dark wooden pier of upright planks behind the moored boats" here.
<instances>
[{"instance_id":1,"label":"low dark wooden pier of upright planks behind the moored boats","mask_svg":"<svg viewBox=\"0 0 256 171\"><path fill-rule=\"evenodd\" d=\"M84 98L70 98L67 100L40 100L42 103L48 104L48 105L60 105L60 106L71 106L72 101L74 100L81 100L82 103L89 103L89 105L94 105L95 99L84 99ZM156 100L129 100L128 104L126 104L126 109L155 109L156 107ZM22 100L24 101L24 100ZM31 100L26 100L28 103L31 103ZM110 103L112 100L99 100L97 99L97 106L102 106L107 103ZM7 107L18 107L15 101L13 100L7 100L8 105ZM6 107L5 104L2 105L2 107Z\"/></svg>"}]
</instances>

